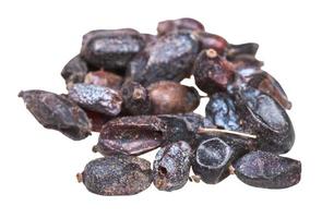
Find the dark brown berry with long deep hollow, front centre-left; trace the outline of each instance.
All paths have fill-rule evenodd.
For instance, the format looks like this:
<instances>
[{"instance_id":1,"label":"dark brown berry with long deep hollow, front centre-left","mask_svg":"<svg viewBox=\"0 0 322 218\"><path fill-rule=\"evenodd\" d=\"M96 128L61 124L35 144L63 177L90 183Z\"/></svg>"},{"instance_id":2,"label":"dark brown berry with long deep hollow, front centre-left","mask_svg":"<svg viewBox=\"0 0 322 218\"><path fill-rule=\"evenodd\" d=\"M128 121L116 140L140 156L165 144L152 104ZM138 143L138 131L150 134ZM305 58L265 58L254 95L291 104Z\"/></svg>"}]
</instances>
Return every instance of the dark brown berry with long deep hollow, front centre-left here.
<instances>
[{"instance_id":1,"label":"dark brown berry with long deep hollow, front centre-left","mask_svg":"<svg viewBox=\"0 0 322 218\"><path fill-rule=\"evenodd\" d=\"M166 131L155 116L117 118L104 125L95 149L103 155L141 155L159 147Z\"/></svg>"}]
</instances>

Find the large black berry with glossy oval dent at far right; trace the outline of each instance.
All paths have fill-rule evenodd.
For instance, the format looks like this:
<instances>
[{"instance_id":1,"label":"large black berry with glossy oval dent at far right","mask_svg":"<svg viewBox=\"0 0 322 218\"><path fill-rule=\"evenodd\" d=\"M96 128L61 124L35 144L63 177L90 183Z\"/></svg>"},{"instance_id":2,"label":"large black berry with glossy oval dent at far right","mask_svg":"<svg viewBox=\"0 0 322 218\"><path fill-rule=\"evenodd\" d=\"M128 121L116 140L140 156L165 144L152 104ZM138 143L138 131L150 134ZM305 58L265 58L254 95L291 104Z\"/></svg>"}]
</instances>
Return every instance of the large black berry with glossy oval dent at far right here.
<instances>
[{"instance_id":1,"label":"large black berry with glossy oval dent at far right","mask_svg":"<svg viewBox=\"0 0 322 218\"><path fill-rule=\"evenodd\" d=\"M252 87L245 88L238 98L243 129L257 135L258 149L287 153L295 142L295 131L285 109L272 97Z\"/></svg>"}]
</instances>

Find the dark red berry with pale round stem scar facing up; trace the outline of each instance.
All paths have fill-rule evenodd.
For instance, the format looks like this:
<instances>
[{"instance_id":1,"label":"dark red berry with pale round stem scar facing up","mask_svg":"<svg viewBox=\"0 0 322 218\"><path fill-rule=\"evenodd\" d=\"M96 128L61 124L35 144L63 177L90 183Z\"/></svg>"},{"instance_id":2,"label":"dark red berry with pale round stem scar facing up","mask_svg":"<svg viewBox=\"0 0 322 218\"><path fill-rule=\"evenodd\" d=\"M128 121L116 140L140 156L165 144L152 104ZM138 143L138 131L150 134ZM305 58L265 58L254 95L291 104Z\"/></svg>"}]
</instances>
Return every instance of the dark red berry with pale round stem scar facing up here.
<instances>
[{"instance_id":1,"label":"dark red berry with pale round stem scar facing up","mask_svg":"<svg viewBox=\"0 0 322 218\"><path fill-rule=\"evenodd\" d=\"M199 53L192 73L196 86L210 95L226 90L227 85L234 81L234 72L228 62L213 49Z\"/></svg>"}]
</instances>

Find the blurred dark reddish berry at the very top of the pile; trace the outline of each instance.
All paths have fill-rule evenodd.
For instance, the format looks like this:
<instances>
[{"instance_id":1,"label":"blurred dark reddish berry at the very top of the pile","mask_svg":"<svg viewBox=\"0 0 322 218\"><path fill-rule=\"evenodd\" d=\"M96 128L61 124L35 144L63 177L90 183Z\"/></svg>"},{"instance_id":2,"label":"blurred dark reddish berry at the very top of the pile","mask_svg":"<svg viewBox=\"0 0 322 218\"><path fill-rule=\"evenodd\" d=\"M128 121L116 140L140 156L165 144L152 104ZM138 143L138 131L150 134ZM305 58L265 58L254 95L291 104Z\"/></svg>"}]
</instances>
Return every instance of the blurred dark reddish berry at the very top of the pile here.
<instances>
[{"instance_id":1,"label":"blurred dark reddish berry at the very top of the pile","mask_svg":"<svg viewBox=\"0 0 322 218\"><path fill-rule=\"evenodd\" d=\"M194 19L188 19L188 17L182 17L177 20L166 20L157 24L157 34L159 36L169 34L171 32L178 32L178 31L203 32L204 26L199 21Z\"/></svg>"}]
</instances>

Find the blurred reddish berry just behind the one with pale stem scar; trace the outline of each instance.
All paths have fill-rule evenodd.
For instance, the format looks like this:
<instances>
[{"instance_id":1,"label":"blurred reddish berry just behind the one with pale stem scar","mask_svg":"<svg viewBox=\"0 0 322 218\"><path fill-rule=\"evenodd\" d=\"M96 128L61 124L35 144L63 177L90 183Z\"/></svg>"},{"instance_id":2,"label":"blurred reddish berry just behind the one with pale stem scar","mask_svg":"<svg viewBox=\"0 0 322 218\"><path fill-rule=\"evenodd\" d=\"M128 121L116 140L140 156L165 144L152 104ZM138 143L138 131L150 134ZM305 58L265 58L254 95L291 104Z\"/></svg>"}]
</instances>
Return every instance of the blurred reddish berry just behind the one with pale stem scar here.
<instances>
[{"instance_id":1,"label":"blurred reddish berry just behind the one with pale stem scar","mask_svg":"<svg viewBox=\"0 0 322 218\"><path fill-rule=\"evenodd\" d=\"M214 49L219 55L225 52L228 43L222 36L206 32L196 32L195 35L201 44L201 49Z\"/></svg>"}]
</instances>

